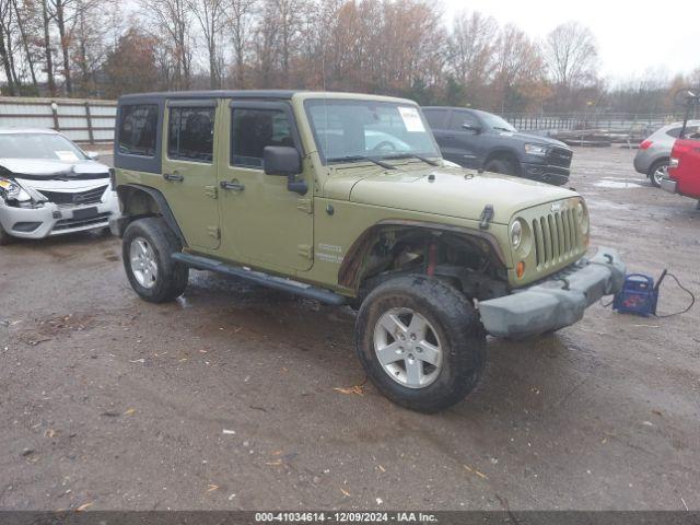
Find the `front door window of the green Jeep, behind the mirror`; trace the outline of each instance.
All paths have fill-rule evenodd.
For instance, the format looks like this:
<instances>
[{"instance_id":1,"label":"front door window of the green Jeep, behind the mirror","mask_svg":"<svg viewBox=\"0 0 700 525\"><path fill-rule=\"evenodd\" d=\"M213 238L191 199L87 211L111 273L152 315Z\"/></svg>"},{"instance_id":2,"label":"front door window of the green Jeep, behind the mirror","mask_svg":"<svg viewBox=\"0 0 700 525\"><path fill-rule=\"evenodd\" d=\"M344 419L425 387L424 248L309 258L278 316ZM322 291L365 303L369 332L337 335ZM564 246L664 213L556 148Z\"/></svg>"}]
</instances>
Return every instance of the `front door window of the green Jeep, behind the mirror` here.
<instances>
[{"instance_id":1,"label":"front door window of the green Jeep, behind the mirror","mask_svg":"<svg viewBox=\"0 0 700 525\"><path fill-rule=\"evenodd\" d=\"M266 147L294 147L292 126L283 110L233 108L232 112L232 166L261 168Z\"/></svg>"}]
</instances>

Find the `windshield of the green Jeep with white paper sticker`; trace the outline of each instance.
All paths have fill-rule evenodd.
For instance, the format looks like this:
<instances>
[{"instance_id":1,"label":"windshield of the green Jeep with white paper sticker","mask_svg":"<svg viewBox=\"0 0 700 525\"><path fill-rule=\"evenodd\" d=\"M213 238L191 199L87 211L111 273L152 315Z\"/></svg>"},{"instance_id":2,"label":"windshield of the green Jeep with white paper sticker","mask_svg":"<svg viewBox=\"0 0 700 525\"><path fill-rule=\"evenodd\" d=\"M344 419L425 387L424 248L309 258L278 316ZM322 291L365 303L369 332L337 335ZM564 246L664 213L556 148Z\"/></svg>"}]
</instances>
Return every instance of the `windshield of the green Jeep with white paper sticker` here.
<instances>
[{"instance_id":1,"label":"windshield of the green Jeep with white paper sticker","mask_svg":"<svg viewBox=\"0 0 700 525\"><path fill-rule=\"evenodd\" d=\"M324 162L416 154L440 158L420 109L375 101L310 100L306 114Z\"/></svg>"}]
</instances>

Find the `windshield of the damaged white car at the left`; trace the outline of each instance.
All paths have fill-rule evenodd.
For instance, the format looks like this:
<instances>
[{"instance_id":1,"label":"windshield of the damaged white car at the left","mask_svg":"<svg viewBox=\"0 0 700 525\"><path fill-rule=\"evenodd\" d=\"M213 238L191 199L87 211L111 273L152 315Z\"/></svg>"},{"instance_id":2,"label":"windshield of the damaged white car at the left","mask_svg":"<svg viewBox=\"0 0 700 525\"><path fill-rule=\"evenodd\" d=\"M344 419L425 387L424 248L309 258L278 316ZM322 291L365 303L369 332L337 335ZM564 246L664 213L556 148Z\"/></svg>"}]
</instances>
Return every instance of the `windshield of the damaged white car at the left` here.
<instances>
[{"instance_id":1,"label":"windshield of the damaged white car at the left","mask_svg":"<svg viewBox=\"0 0 700 525\"><path fill-rule=\"evenodd\" d=\"M86 156L66 137L49 133L0 133L0 159L84 161Z\"/></svg>"}]
</instances>

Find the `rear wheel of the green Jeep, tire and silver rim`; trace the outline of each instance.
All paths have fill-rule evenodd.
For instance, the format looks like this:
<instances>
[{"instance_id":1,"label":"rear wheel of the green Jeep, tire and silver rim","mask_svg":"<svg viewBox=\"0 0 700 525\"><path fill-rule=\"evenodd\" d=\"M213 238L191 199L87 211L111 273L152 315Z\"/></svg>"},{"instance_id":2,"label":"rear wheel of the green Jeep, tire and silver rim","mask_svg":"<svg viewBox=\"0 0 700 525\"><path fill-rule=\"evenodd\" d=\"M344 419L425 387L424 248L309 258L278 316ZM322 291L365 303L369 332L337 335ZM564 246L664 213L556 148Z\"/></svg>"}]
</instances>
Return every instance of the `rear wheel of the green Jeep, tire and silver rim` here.
<instances>
[{"instance_id":1,"label":"rear wheel of the green Jeep, tire and silver rim","mask_svg":"<svg viewBox=\"0 0 700 525\"><path fill-rule=\"evenodd\" d=\"M183 245L161 218L139 219L124 233L121 258L131 288L145 301L163 303L187 288L189 268L172 254Z\"/></svg>"}]
</instances>

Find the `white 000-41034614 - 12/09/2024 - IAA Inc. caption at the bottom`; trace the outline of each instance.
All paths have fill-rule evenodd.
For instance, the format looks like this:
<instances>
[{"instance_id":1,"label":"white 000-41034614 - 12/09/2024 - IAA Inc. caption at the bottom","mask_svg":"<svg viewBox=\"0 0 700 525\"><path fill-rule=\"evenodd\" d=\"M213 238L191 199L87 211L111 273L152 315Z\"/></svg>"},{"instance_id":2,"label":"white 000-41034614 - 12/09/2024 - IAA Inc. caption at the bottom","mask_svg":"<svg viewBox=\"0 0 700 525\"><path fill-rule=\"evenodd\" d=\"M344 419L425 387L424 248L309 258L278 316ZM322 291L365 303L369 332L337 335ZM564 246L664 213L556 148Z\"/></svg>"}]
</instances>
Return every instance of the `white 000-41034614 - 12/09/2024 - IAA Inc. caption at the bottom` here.
<instances>
[{"instance_id":1,"label":"white 000-41034614 - 12/09/2024 - IAA Inc. caption at the bottom","mask_svg":"<svg viewBox=\"0 0 700 525\"><path fill-rule=\"evenodd\" d=\"M436 523L434 514L422 512L258 512L257 523Z\"/></svg>"}]
</instances>

